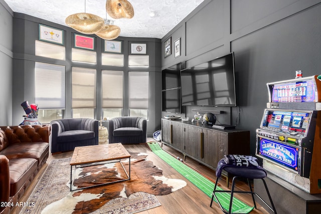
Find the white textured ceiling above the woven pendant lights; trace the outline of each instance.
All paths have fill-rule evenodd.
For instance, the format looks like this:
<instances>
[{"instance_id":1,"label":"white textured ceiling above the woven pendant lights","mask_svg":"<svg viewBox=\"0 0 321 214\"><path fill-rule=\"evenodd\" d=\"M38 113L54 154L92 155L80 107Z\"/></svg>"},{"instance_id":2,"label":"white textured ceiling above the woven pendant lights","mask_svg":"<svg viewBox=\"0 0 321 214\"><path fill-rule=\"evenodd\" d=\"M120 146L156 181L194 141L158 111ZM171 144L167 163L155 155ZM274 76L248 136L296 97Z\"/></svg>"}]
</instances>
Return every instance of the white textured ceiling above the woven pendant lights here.
<instances>
[{"instance_id":1,"label":"white textured ceiling above the woven pendant lights","mask_svg":"<svg viewBox=\"0 0 321 214\"><path fill-rule=\"evenodd\" d=\"M106 14L105 0L5 0L17 13L27 14L53 23L65 25L71 14L95 14L114 20L120 36L163 38L204 0L129 0L134 8L132 19L111 19ZM86 4L85 4L86 2ZM85 8L86 5L86 8Z\"/></svg>"}]
</instances>

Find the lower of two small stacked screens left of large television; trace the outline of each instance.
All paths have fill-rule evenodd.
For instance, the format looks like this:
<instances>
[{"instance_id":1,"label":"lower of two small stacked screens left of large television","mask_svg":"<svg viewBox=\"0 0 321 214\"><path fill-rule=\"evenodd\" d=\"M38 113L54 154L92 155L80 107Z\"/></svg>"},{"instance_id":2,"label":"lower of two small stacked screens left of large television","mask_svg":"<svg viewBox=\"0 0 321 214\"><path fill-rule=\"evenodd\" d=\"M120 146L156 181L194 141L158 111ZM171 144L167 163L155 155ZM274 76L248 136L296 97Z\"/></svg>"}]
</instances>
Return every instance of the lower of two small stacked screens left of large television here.
<instances>
[{"instance_id":1,"label":"lower of two small stacked screens left of large television","mask_svg":"<svg viewBox=\"0 0 321 214\"><path fill-rule=\"evenodd\" d=\"M182 113L181 88L162 91L162 111Z\"/></svg>"}]
</instances>

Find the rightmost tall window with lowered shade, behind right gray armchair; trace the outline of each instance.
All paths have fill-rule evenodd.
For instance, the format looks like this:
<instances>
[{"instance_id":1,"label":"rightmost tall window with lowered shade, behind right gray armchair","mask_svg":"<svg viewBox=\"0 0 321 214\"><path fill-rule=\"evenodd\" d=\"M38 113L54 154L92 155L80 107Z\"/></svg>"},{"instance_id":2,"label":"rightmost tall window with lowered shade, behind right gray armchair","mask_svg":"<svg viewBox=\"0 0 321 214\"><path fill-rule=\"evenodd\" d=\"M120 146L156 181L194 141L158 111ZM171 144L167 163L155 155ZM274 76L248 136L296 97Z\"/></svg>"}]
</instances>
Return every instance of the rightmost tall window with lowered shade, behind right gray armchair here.
<instances>
[{"instance_id":1,"label":"rightmost tall window with lowered shade, behind right gray armchair","mask_svg":"<svg viewBox=\"0 0 321 214\"><path fill-rule=\"evenodd\" d=\"M128 72L129 116L148 119L148 72Z\"/></svg>"}]
</instances>

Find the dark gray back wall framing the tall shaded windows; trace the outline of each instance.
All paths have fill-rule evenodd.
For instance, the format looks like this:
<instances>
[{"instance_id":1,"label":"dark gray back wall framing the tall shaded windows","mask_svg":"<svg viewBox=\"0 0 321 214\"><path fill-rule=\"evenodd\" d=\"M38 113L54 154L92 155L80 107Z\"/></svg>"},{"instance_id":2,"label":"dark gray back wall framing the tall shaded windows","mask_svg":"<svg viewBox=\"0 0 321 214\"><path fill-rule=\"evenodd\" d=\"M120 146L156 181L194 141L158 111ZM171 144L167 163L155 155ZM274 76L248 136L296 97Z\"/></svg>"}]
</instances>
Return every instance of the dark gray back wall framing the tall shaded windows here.
<instances>
[{"instance_id":1,"label":"dark gray back wall framing the tall shaded windows","mask_svg":"<svg viewBox=\"0 0 321 214\"><path fill-rule=\"evenodd\" d=\"M71 117L71 68L84 67L97 70L97 113L96 118L101 116L101 70L120 70L124 72L124 116L128 115L128 72L129 71L148 71L149 72L149 118L147 121L147 135L160 128L161 121L161 100L154 96L161 93L161 40L154 38L125 38L118 37L117 40L123 41L124 67L111 67L101 65L101 53L103 51L103 40L96 35L97 65L81 64L71 61L71 49L73 47L73 33L78 33L66 26L41 20L25 14L14 13L13 23L13 43L14 43L14 62L13 62L13 120L14 125L22 122L22 115L25 114L21 103L28 100L29 103L35 102L35 62L52 63L66 66L66 118ZM66 46L66 61L49 59L35 56L35 41L39 39L39 24L64 30L64 40ZM146 43L146 54L149 55L148 68L128 68L128 54L130 54L131 43ZM41 106L40 106L41 108ZM41 121L40 121L41 122Z\"/></svg>"}]
</instances>

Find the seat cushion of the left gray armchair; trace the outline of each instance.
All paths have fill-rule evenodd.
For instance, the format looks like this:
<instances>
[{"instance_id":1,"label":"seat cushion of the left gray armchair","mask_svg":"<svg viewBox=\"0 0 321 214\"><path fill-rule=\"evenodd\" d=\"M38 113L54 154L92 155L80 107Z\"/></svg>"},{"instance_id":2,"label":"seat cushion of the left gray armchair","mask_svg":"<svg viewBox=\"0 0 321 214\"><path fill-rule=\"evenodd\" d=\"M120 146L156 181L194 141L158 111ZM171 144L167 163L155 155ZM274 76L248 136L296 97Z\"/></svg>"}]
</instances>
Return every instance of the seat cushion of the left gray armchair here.
<instances>
[{"instance_id":1,"label":"seat cushion of the left gray armchair","mask_svg":"<svg viewBox=\"0 0 321 214\"><path fill-rule=\"evenodd\" d=\"M64 131L57 137L57 142L68 142L95 138L95 132L87 130Z\"/></svg>"}]
</instances>

